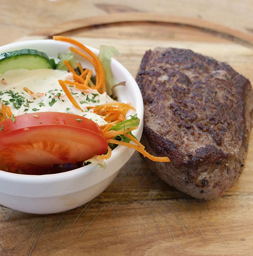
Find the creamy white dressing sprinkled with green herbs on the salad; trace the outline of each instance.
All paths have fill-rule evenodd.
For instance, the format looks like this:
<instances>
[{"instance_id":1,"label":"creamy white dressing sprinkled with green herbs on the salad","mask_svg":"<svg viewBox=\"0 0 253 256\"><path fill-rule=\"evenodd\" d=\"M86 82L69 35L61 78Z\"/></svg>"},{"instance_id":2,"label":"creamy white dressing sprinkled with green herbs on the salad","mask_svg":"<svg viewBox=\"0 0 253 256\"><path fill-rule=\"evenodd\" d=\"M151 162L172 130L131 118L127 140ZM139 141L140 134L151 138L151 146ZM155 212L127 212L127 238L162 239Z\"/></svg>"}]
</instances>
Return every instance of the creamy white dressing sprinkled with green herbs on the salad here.
<instances>
[{"instance_id":1,"label":"creamy white dressing sprinkled with green herbs on the salad","mask_svg":"<svg viewBox=\"0 0 253 256\"><path fill-rule=\"evenodd\" d=\"M80 91L74 86L68 86L72 96L83 109L82 112L69 101L58 79L73 81L72 74L65 70L9 70L0 75L0 102L8 105L14 116L55 111L84 116L98 125L107 123L103 116L92 113L92 109L89 109L90 106L112 102L113 100L106 93L100 94L93 89ZM23 87L27 87L36 96L27 93Z\"/></svg>"}]
</instances>

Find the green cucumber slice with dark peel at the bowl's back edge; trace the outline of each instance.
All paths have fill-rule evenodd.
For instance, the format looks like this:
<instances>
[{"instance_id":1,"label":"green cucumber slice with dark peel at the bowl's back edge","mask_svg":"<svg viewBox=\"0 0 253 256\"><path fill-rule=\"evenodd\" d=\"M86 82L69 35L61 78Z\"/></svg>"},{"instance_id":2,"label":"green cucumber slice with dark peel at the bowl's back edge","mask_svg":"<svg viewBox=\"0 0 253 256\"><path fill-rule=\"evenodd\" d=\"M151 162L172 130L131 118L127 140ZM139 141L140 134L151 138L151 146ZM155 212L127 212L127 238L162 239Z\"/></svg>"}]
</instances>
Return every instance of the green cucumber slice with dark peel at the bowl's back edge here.
<instances>
[{"instance_id":1,"label":"green cucumber slice with dark peel at the bowl's back edge","mask_svg":"<svg viewBox=\"0 0 253 256\"><path fill-rule=\"evenodd\" d=\"M39 68L52 69L53 66L46 53L33 49L0 53L0 74L19 68L28 70Z\"/></svg>"}]
</instances>

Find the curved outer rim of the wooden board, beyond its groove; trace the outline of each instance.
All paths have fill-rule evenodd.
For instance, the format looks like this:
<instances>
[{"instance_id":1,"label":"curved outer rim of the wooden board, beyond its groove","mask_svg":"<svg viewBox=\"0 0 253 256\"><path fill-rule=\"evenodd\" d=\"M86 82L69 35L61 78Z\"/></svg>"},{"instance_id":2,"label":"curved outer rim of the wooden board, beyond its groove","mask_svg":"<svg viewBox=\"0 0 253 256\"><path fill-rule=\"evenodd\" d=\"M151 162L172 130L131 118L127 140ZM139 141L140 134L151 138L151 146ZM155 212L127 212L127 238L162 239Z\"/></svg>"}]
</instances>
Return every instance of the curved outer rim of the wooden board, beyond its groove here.
<instances>
[{"instance_id":1,"label":"curved outer rim of the wooden board, beyond its groove","mask_svg":"<svg viewBox=\"0 0 253 256\"><path fill-rule=\"evenodd\" d=\"M88 17L80 20L73 20L66 23L61 23L49 28L39 30L31 35L44 36L51 38L53 35L59 35L64 32L70 32L75 29L94 27L98 25L108 25L127 22L156 22L156 23L173 23L178 25L190 26L202 29L207 33L212 33L216 36L227 38L240 44L246 44L253 47L253 35L246 34L207 20L201 20L190 17L158 15L150 13L115 13L103 16Z\"/></svg>"}]
</instances>

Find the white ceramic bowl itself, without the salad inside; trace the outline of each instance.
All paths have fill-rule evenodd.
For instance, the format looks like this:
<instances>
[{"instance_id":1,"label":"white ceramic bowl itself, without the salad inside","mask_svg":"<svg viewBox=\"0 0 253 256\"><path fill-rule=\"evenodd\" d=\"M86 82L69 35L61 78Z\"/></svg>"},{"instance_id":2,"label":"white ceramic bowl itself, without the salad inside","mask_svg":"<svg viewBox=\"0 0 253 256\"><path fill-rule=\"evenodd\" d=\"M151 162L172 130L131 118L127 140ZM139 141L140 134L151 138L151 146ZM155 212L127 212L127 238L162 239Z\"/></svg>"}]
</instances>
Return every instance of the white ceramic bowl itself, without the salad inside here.
<instances>
[{"instance_id":1,"label":"white ceramic bowl itself, without the salad inside","mask_svg":"<svg viewBox=\"0 0 253 256\"><path fill-rule=\"evenodd\" d=\"M49 58L57 59L59 52L66 52L70 44L54 40L34 40L0 47L0 53L18 49L37 49ZM95 54L98 50L89 47ZM91 67L83 59L76 60ZM143 101L135 79L118 61L112 59L112 73L117 83L126 81L125 87L117 87L115 94L120 102L131 102L138 118L139 128L133 132L141 138L143 129ZM69 172L51 175L20 175L0 171L0 204L29 213L55 213L73 209L95 198L118 175L120 168L129 160L134 150L118 146L106 160L106 169L90 164Z\"/></svg>"}]
</instances>

